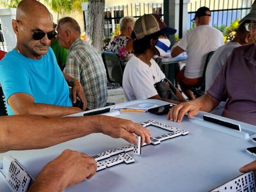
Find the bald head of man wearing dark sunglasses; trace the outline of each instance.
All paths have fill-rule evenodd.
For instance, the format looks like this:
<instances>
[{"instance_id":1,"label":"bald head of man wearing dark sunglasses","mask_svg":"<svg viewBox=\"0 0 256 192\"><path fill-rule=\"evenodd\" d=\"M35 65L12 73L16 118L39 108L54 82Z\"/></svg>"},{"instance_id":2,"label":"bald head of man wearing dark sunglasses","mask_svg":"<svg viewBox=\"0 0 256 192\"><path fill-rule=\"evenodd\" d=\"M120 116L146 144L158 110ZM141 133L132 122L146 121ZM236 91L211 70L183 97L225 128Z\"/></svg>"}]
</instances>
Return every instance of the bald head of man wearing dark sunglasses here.
<instances>
[{"instance_id":1,"label":"bald head of man wearing dark sunglasses","mask_svg":"<svg viewBox=\"0 0 256 192\"><path fill-rule=\"evenodd\" d=\"M41 59L47 53L51 42L48 35L36 37L36 32L46 34L53 31L52 17L43 4L36 0L21 1L16 10L16 20L12 20L12 28L22 55Z\"/></svg>"}]
</instances>

